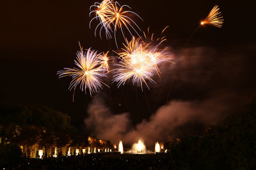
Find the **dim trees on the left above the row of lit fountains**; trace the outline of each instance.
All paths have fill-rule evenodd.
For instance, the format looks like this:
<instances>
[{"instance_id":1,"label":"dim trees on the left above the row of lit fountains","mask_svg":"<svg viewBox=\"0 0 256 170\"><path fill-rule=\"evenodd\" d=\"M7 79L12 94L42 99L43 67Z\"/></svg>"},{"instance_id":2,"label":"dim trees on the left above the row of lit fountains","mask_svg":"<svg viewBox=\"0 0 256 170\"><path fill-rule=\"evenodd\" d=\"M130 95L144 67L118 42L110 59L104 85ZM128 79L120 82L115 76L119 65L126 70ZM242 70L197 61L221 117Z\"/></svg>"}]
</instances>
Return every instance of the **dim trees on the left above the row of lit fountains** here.
<instances>
[{"instance_id":1,"label":"dim trees on the left above the row of lit fountains","mask_svg":"<svg viewBox=\"0 0 256 170\"><path fill-rule=\"evenodd\" d=\"M70 117L45 106L0 105L3 141L22 146L65 146L72 142Z\"/></svg>"}]
</instances>

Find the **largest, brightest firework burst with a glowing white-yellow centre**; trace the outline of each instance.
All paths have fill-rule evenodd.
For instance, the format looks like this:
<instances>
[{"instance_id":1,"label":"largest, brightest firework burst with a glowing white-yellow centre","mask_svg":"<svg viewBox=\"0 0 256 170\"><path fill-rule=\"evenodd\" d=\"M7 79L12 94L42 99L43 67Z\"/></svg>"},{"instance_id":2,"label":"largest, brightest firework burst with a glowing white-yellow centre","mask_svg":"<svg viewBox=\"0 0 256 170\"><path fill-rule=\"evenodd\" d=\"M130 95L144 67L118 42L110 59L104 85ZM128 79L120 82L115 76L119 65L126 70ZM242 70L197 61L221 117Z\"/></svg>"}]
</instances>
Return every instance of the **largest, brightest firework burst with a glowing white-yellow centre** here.
<instances>
[{"instance_id":1,"label":"largest, brightest firework burst with a glowing white-yellow centre","mask_svg":"<svg viewBox=\"0 0 256 170\"><path fill-rule=\"evenodd\" d=\"M154 76L154 73L159 74L157 65L164 60L168 60L164 50L157 48L159 44L150 48L150 43L145 43L141 38L132 37L132 40L124 45L123 52L118 53L121 61L120 64L116 64L119 68L115 69L116 74L113 78L118 87L132 78L133 84L136 83L141 89L145 84L149 89L147 81L155 82L152 76Z\"/></svg>"}]
</instances>

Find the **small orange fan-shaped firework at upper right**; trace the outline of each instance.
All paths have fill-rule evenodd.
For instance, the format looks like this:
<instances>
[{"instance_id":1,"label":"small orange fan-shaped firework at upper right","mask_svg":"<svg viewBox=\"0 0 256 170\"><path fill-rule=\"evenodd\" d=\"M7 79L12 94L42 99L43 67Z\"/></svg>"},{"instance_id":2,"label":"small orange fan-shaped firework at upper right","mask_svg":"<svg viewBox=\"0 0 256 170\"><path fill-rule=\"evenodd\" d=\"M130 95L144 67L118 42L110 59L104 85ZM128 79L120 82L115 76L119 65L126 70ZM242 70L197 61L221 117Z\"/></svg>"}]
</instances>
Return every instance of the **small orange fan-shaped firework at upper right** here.
<instances>
[{"instance_id":1,"label":"small orange fan-shaped firework at upper right","mask_svg":"<svg viewBox=\"0 0 256 170\"><path fill-rule=\"evenodd\" d=\"M222 27L224 19L221 16L221 12L219 10L220 8L218 8L218 5L215 5L205 20L201 22L201 25L208 24L214 27Z\"/></svg>"}]
</instances>

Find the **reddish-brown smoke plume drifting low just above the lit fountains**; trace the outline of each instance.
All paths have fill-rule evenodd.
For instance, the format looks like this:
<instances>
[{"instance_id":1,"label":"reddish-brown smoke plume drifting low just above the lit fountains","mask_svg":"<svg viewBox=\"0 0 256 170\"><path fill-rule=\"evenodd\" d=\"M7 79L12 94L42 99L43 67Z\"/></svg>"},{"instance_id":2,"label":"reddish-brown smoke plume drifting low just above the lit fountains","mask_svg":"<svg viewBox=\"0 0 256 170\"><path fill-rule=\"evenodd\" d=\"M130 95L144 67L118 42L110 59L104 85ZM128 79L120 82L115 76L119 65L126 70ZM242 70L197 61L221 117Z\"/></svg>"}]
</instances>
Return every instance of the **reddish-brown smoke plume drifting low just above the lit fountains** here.
<instances>
[{"instance_id":1,"label":"reddish-brown smoke plume drifting low just above the lit fountains","mask_svg":"<svg viewBox=\"0 0 256 170\"><path fill-rule=\"evenodd\" d=\"M131 128L129 114L111 114L98 95L93 97L89 117L84 122L97 138L115 143L122 140L129 145L142 139L146 145L152 146L156 141L167 142L191 134L196 130L193 129L196 124L207 127L219 122L227 114L230 107L227 101L230 99L236 99L236 96L218 96L203 102L170 101L149 120L143 120Z\"/></svg>"}]
</instances>

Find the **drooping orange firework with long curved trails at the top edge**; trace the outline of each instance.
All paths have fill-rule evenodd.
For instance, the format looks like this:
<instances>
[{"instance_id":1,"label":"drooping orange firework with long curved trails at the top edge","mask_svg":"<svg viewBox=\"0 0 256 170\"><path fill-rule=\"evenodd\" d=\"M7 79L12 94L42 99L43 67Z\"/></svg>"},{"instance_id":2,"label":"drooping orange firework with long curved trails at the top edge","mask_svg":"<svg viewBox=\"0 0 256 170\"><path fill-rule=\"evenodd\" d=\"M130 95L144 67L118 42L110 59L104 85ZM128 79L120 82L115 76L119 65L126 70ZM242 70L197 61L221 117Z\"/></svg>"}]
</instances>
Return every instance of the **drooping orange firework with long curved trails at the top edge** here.
<instances>
[{"instance_id":1,"label":"drooping orange firework with long curved trails at the top edge","mask_svg":"<svg viewBox=\"0 0 256 170\"><path fill-rule=\"evenodd\" d=\"M97 8L96 10L92 10L92 8ZM136 13L134 13L133 11L130 10L126 10L127 9L131 9L129 6L127 5L120 5L117 1L113 1L113 0L104 0L102 1L102 3L95 3L94 5L92 5L90 7L90 10L92 10L90 12L90 15L92 13L96 13L96 17L92 18L92 20L90 21L90 25L92 23L93 20L98 19L100 20L100 23L97 25L97 27L95 28L95 36L96 36L96 32L98 27L101 25L100 27L100 38L101 38L101 31L104 28L106 31L106 38L111 39L111 33L114 32L114 37L115 37L115 43L116 43L116 47L118 47L117 42L116 42L116 31L117 29L120 29L120 31L122 32L122 35L124 36L125 39L125 33L124 33L124 29L126 29L129 34L131 34L132 36L132 31L136 32L136 34L138 34L138 32L136 31L136 29L140 29L140 27L136 24L136 22L134 22L134 20L132 20L131 17L128 17L130 14L135 15L137 17L139 17L141 20L142 18L137 15ZM135 25L135 26L133 26ZM131 28L131 30L130 30ZM138 34L138 36L140 36ZM126 39L125 39L126 41ZM127 41L126 41L127 43Z\"/></svg>"}]
</instances>

